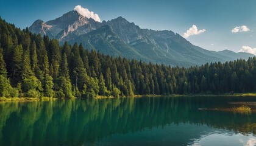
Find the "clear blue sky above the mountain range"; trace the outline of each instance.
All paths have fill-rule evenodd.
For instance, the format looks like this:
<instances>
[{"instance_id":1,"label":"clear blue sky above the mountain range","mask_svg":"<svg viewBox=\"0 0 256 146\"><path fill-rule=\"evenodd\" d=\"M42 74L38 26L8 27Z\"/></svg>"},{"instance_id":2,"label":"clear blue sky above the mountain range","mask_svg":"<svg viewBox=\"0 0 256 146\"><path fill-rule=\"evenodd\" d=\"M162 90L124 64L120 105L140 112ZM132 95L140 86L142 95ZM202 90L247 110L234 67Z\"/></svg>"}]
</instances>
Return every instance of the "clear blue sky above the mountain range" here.
<instances>
[{"instance_id":1,"label":"clear blue sky above the mountain range","mask_svg":"<svg viewBox=\"0 0 256 146\"><path fill-rule=\"evenodd\" d=\"M253 0L2 0L0 16L24 29L37 19L62 16L76 5L97 13L101 21L123 16L143 29L172 30L184 37L194 25L197 31L192 27L186 36L196 46L256 54Z\"/></svg>"}]
</instances>

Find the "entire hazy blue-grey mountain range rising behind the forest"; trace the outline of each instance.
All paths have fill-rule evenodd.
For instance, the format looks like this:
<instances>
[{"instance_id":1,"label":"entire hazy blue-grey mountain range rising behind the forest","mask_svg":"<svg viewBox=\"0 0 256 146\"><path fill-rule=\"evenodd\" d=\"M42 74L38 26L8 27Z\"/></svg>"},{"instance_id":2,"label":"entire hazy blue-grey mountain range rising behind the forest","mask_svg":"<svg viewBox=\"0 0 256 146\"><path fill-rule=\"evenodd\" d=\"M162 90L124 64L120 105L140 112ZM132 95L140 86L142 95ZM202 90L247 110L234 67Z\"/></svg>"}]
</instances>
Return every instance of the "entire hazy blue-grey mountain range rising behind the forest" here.
<instances>
[{"instance_id":1,"label":"entire hazy blue-grey mountain range rising behind the forest","mask_svg":"<svg viewBox=\"0 0 256 146\"><path fill-rule=\"evenodd\" d=\"M169 30L140 29L134 23L118 17L111 21L94 21L77 11L60 18L35 21L29 27L32 33L48 35L60 43L82 43L87 49L96 49L114 57L134 58L171 66L201 65L207 62L247 59L254 55L231 50L210 51L194 46L178 33Z\"/></svg>"}]
</instances>

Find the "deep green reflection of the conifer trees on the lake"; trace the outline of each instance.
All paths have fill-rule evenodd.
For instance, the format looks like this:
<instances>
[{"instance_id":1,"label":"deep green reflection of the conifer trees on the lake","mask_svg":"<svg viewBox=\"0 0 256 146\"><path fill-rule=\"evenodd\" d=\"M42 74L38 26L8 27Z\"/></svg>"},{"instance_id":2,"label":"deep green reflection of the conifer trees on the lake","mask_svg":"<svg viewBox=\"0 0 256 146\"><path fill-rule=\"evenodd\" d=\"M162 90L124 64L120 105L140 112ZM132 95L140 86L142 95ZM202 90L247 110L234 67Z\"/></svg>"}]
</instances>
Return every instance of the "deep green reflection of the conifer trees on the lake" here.
<instances>
[{"instance_id":1,"label":"deep green reflection of the conifer trees on the lake","mask_svg":"<svg viewBox=\"0 0 256 146\"><path fill-rule=\"evenodd\" d=\"M194 123L256 134L254 114L197 110L224 106L219 103L191 97L2 102L0 145L80 145L111 134L170 123Z\"/></svg>"}]
</instances>

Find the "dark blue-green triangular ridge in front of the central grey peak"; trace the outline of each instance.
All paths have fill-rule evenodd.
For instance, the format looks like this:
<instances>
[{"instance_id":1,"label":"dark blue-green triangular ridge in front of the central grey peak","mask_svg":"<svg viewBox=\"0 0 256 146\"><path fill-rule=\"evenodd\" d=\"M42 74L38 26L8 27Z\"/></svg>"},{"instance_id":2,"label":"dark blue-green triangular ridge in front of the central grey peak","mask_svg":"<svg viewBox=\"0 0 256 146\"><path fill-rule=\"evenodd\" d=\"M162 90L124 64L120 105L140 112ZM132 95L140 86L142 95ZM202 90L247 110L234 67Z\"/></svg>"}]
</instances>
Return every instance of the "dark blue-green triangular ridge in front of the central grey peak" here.
<instances>
[{"instance_id":1,"label":"dark blue-green triangular ridge in front of the central grey peak","mask_svg":"<svg viewBox=\"0 0 256 146\"><path fill-rule=\"evenodd\" d=\"M104 54L111 54L116 57L121 56L135 58L138 60L141 59L144 61L149 60L149 58L140 55L137 50L120 40L119 36L110 29L110 26L102 26L99 29L86 33L85 35L72 38L69 42L82 42L85 48L98 48L100 52Z\"/></svg>"}]
</instances>

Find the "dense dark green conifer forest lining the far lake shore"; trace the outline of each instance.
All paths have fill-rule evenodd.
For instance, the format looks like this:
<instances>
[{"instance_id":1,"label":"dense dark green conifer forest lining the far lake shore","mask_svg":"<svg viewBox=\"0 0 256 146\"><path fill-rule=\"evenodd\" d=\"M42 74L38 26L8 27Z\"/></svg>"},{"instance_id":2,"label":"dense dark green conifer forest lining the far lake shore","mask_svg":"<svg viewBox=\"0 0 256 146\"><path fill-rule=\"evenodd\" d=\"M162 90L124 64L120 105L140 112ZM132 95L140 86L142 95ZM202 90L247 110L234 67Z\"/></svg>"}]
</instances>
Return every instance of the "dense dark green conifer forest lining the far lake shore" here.
<instances>
[{"instance_id":1,"label":"dense dark green conifer forest lining the far lake shore","mask_svg":"<svg viewBox=\"0 0 256 146\"><path fill-rule=\"evenodd\" d=\"M0 97L96 97L256 91L256 58L191 68L113 58L0 19Z\"/></svg>"}]
</instances>

